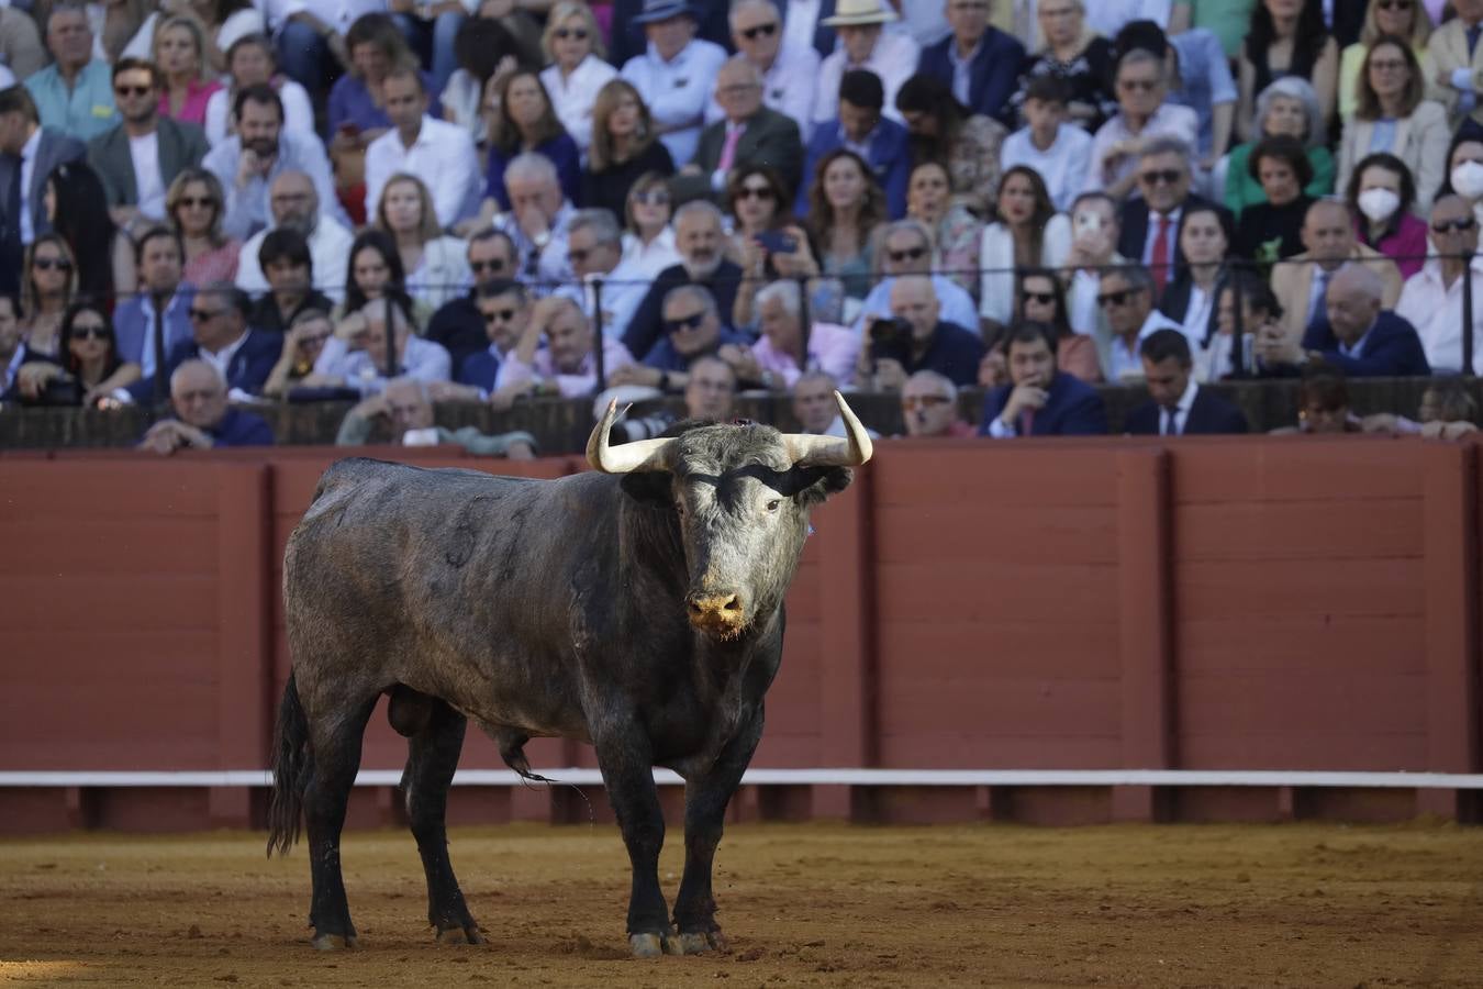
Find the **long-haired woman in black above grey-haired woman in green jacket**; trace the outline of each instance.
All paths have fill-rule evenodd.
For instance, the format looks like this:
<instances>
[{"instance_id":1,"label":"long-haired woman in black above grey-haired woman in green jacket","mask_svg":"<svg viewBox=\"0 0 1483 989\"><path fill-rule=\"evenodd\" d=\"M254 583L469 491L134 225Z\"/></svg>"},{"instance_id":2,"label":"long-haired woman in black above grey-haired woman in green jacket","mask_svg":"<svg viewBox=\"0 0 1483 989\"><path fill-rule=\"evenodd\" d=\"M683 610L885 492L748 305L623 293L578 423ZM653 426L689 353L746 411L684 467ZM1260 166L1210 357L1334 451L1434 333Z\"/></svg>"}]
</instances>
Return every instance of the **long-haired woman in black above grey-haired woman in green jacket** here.
<instances>
[{"instance_id":1,"label":"long-haired woman in black above grey-haired woman in green jacket","mask_svg":"<svg viewBox=\"0 0 1483 989\"><path fill-rule=\"evenodd\" d=\"M1323 24L1323 0L1261 0L1252 7L1252 24L1241 46L1237 135L1253 139L1250 128L1256 93L1284 76L1312 83L1323 114L1320 130L1333 122L1339 80L1339 46Z\"/></svg>"}]
</instances>

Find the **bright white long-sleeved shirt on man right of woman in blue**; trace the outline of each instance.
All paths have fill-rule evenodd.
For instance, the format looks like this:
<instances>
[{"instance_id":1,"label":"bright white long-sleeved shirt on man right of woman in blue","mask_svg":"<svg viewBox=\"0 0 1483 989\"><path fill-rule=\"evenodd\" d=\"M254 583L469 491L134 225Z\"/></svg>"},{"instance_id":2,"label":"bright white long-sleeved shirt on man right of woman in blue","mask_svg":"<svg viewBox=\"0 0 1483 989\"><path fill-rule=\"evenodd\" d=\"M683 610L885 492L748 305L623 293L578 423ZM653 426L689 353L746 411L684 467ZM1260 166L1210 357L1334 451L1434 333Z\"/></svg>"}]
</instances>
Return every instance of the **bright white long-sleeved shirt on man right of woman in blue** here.
<instances>
[{"instance_id":1,"label":"bright white long-sleeved shirt on man right of woman in blue","mask_svg":"<svg viewBox=\"0 0 1483 989\"><path fill-rule=\"evenodd\" d=\"M452 227L479 208L479 156L469 130L457 123L423 114L423 126L418 128L412 147L402 144L402 132L396 128L366 147L368 216L377 214L381 190L397 172L417 175L427 184L440 227Z\"/></svg>"}]
</instances>

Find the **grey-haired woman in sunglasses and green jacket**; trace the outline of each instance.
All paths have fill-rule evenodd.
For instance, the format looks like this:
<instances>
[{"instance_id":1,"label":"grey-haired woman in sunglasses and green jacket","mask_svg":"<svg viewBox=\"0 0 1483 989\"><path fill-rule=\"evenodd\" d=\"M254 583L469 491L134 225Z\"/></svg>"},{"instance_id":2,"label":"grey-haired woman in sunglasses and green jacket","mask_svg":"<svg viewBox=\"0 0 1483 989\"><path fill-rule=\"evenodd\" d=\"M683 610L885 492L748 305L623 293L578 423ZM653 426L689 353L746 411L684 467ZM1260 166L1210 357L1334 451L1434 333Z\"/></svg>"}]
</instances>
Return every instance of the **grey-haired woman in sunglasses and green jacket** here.
<instances>
[{"instance_id":1,"label":"grey-haired woman in sunglasses and green jacket","mask_svg":"<svg viewBox=\"0 0 1483 989\"><path fill-rule=\"evenodd\" d=\"M1252 171L1252 153L1266 138L1296 139L1308 159L1308 181L1302 191L1317 199L1333 191L1333 153L1329 151L1318 96L1307 79L1283 76L1256 98L1252 139L1231 148L1225 168L1225 206L1237 218L1258 203L1268 202L1261 175Z\"/></svg>"}]
</instances>

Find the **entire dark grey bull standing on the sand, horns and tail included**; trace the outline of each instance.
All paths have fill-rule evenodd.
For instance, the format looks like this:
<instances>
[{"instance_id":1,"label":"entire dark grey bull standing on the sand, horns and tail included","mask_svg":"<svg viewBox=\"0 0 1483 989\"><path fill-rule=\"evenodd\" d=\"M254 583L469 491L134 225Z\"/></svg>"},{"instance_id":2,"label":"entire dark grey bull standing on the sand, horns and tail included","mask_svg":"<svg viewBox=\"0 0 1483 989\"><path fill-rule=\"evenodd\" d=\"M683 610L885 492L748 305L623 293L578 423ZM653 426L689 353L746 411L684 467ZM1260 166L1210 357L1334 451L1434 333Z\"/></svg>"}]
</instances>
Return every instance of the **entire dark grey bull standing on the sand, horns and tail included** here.
<instances>
[{"instance_id":1,"label":"entire dark grey bull standing on the sand, horns and tail included","mask_svg":"<svg viewBox=\"0 0 1483 989\"><path fill-rule=\"evenodd\" d=\"M303 814L316 947L356 942L340 832L381 694L408 737L402 790L439 940L483 940L443 824L473 719L522 775L531 737L595 747L633 867L635 955L724 943L712 860L762 734L808 512L871 455L836 400L848 439L700 426L610 448L610 408L587 446L602 473L559 480L369 460L325 472L283 560L294 670L268 833L270 854L288 851ZM655 765L685 780L673 927Z\"/></svg>"}]
</instances>

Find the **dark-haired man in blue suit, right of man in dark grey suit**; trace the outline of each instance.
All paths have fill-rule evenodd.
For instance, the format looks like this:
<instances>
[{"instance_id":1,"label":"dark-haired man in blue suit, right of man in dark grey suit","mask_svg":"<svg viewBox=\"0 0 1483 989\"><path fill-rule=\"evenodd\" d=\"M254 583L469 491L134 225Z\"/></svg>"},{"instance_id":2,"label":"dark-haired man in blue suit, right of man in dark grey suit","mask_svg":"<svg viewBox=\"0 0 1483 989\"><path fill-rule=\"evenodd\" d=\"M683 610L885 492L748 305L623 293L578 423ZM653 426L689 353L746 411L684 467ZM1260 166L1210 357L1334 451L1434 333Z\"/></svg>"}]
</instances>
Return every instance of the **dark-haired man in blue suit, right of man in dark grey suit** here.
<instances>
[{"instance_id":1,"label":"dark-haired man in blue suit, right of man in dark grey suit","mask_svg":"<svg viewBox=\"0 0 1483 989\"><path fill-rule=\"evenodd\" d=\"M808 215L808 190L819 178L819 162L835 148L848 148L871 166L875 181L885 190L885 211L891 219L906 215L906 179L912 172L912 156L906 142L906 128L881 116L885 87L881 77L863 68L851 70L839 79L839 116L814 129L804 163L804 181L798 185L793 212Z\"/></svg>"}]
</instances>

